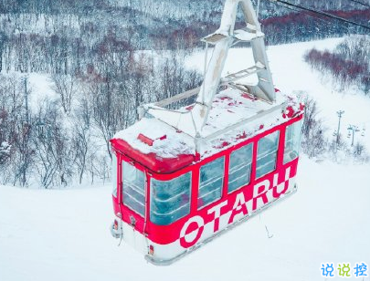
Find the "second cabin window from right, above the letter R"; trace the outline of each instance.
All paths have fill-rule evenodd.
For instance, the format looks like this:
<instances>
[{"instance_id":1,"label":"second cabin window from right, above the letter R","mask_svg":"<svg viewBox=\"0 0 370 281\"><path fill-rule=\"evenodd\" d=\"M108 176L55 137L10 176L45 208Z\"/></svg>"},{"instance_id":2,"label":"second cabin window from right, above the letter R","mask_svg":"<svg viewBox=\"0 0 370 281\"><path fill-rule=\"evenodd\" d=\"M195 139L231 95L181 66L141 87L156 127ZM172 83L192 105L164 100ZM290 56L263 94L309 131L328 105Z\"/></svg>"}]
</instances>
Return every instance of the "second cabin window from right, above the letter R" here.
<instances>
[{"instance_id":1,"label":"second cabin window from right, above the letter R","mask_svg":"<svg viewBox=\"0 0 370 281\"><path fill-rule=\"evenodd\" d=\"M276 169L278 144L279 131L275 131L259 140L257 151L256 178L260 178Z\"/></svg>"}]
</instances>

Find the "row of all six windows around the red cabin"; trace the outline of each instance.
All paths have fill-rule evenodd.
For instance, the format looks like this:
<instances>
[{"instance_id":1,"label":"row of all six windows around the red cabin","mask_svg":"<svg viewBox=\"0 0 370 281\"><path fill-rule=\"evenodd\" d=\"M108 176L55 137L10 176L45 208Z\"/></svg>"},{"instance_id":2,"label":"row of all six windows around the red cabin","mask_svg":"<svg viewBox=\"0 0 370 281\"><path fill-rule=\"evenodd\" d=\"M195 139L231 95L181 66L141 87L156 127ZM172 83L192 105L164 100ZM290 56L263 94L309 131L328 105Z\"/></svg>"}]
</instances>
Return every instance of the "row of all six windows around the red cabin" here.
<instances>
[{"instance_id":1,"label":"row of all six windows around the red cabin","mask_svg":"<svg viewBox=\"0 0 370 281\"><path fill-rule=\"evenodd\" d=\"M279 147L279 131L270 133L258 141L256 178L276 169ZM284 164L299 155L301 122L287 127L284 149ZM231 152L228 174L228 193L250 182L253 159L253 143ZM197 208L214 203L222 196L225 179L225 156L219 157L200 168ZM123 203L132 211L144 215L144 173L123 161ZM172 224L190 213L191 172L171 181L151 180L150 219L153 224Z\"/></svg>"}]
</instances>

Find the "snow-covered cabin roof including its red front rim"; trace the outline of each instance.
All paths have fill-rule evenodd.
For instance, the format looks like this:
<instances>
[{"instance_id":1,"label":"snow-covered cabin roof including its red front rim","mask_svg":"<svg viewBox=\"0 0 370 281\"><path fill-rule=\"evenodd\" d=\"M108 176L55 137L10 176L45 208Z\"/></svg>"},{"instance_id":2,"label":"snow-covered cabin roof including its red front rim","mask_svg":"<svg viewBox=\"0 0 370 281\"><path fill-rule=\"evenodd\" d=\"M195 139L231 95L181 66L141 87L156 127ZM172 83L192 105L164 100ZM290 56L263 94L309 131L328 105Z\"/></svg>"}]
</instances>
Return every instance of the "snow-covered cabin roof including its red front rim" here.
<instances>
[{"instance_id":1,"label":"snow-covered cabin roof including its red front rim","mask_svg":"<svg viewBox=\"0 0 370 281\"><path fill-rule=\"evenodd\" d=\"M274 108L276 110L270 110ZM191 106L180 110L190 109ZM206 158L286 122L301 110L302 106L296 99L280 92L277 100L269 104L247 92L227 88L220 91L213 100L207 123L198 140L197 152L201 158ZM263 114L268 111L269 114ZM226 130L236 124L240 126L235 130ZM113 147L153 172L174 172L196 159L196 141L193 137L162 120L150 117L144 117L129 128L117 132L111 142Z\"/></svg>"}]
</instances>

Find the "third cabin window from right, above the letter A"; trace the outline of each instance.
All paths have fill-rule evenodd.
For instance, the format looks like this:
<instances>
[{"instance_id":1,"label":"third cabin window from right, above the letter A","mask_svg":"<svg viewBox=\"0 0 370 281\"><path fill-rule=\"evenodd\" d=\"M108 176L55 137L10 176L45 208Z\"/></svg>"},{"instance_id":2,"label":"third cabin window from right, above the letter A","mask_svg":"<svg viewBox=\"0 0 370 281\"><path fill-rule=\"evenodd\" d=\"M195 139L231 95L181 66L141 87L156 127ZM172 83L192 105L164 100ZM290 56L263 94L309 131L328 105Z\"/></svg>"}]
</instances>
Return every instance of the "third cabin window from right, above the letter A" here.
<instances>
[{"instance_id":1,"label":"third cabin window from right, above the letter A","mask_svg":"<svg viewBox=\"0 0 370 281\"><path fill-rule=\"evenodd\" d=\"M252 153L252 143L231 153L228 169L228 193L249 183Z\"/></svg>"}]
</instances>

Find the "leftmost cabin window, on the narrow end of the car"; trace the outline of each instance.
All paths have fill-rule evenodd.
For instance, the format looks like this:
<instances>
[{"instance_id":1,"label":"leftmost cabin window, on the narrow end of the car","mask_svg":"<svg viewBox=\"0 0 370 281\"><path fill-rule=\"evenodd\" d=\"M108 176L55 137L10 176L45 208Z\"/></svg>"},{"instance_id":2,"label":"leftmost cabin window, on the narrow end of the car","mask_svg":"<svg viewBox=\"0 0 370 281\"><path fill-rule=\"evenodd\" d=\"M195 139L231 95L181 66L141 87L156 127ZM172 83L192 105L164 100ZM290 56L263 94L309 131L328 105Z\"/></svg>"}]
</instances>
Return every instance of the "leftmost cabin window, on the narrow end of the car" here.
<instances>
[{"instance_id":1,"label":"leftmost cabin window, on the narrow end of the car","mask_svg":"<svg viewBox=\"0 0 370 281\"><path fill-rule=\"evenodd\" d=\"M145 213L145 175L131 164L123 161L123 204L135 213Z\"/></svg>"}]
</instances>

